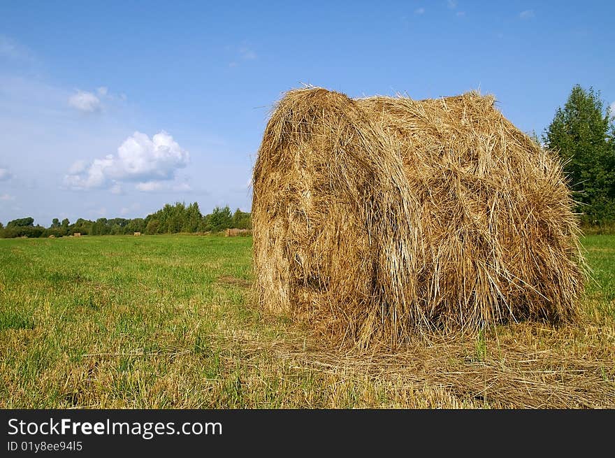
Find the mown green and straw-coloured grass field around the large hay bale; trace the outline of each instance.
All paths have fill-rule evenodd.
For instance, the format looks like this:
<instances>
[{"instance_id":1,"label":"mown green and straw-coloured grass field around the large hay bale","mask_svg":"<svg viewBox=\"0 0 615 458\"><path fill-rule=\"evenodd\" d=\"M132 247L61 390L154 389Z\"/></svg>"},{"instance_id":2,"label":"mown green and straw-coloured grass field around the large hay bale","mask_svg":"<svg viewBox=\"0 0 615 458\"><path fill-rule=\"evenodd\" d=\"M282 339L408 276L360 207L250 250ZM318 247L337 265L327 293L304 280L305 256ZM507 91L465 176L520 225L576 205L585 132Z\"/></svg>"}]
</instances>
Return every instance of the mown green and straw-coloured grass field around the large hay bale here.
<instances>
[{"instance_id":1,"label":"mown green and straw-coloured grass field around the large hay bale","mask_svg":"<svg viewBox=\"0 0 615 458\"><path fill-rule=\"evenodd\" d=\"M0 408L615 408L615 236L581 323L340 350L249 300L252 238L0 240Z\"/></svg>"}]
</instances>

